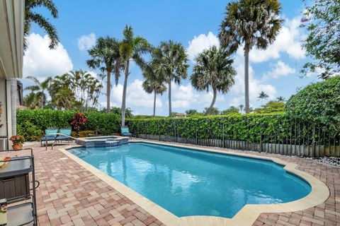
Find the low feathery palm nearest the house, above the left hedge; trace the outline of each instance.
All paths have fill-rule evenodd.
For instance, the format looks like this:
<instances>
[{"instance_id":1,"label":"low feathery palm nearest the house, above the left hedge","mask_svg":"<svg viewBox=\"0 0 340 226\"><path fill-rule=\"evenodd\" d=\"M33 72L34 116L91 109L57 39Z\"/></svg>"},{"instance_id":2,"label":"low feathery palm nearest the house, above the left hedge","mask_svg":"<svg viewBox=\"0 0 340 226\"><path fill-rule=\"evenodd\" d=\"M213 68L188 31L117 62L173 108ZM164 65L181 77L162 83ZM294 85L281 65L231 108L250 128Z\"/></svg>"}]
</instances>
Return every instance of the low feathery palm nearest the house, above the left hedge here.
<instances>
[{"instance_id":1,"label":"low feathery palm nearest the house, above the left hedge","mask_svg":"<svg viewBox=\"0 0 340 226\"><path fill-rule=\"evenodd\" d=\"M34 76L27 76L26 79L33 81L35 85L29 85L25 90L30 90L30 94L26 98L26 107L40 107L43 108L47 102L47 90L52 81L51 77L47 77L45 81L40 81Z\"/></svg>"}]
</instances>

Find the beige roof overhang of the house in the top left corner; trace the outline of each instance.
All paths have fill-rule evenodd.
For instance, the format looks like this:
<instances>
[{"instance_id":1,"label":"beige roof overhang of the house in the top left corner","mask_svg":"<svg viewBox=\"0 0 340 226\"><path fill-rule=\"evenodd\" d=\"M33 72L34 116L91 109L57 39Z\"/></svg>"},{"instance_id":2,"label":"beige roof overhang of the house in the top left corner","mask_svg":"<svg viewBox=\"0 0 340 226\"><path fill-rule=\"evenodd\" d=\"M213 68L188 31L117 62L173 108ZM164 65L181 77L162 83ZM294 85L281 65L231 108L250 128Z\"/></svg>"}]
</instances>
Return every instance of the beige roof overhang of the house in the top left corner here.
<instances>
[{"instance_id":1,"label":"beige roof overhang of the house in the top left corner","mask_svg":"<svg viewBox=\"0 0 340 226\"><path fill-rule=\"evenodd\" d=\"M0 1L0 78L23 76L24 0Z\"/></svg>"}]
</instances>

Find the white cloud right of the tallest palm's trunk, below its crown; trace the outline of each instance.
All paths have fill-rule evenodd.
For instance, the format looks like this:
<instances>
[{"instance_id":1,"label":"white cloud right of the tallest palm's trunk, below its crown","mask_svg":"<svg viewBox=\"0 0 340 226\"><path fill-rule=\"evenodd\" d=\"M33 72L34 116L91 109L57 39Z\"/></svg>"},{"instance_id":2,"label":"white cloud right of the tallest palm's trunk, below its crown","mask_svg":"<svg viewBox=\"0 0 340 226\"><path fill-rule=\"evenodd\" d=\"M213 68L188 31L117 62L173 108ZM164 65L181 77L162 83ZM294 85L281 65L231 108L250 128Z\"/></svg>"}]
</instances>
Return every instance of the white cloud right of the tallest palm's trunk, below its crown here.
<instances>
[{"instance_id":1,"label":"white cloud right of the tallest palm's trunk, below its crown","mask_svg":"<svg viewBox=\"0 0 340 226\"><path fill-rule=\"evenodd\" d=\"M249 61L260 63L270 59L278 59L283 52L293 59L305 58L305 50L302 49L300 44L304 37L302 29L300 28L300 20L300 17L293 18L292 20L285 19L273 44L265 50L251 49ZM243 47L237 50L237 54L242 57L244 56Z\"/></svg>"}]
</instances>

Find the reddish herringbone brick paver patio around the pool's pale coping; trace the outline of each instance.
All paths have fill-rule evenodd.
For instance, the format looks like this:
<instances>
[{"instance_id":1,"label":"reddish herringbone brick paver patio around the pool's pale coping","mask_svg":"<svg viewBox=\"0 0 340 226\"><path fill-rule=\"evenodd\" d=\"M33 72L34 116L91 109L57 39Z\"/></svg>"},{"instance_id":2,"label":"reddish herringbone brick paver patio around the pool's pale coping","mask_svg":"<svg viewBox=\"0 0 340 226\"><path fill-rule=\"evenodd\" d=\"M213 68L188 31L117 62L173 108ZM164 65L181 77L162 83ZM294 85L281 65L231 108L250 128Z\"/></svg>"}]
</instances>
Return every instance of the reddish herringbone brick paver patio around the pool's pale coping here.
<instances>
[{"instance_id":1,"label":"reddish herringbone brick paver patio around the pool's pale coping","mask_svg":"<svg viewBox=\"0 0 340 226\"><path fill-rule=\"evenodd\" d=\"M54 150L50 147L45 150L38 144L26 147L34 150L36 178L40 181L37 189L40 225L164 225L69 159L58 150L58 146ZM329 187L331 195L325 203L307 210L262 213L254 225L340 226L340 168L310 159L280 155L276 157L294 162L298 169L322 180Z\"/></svg>"}]
</instances>

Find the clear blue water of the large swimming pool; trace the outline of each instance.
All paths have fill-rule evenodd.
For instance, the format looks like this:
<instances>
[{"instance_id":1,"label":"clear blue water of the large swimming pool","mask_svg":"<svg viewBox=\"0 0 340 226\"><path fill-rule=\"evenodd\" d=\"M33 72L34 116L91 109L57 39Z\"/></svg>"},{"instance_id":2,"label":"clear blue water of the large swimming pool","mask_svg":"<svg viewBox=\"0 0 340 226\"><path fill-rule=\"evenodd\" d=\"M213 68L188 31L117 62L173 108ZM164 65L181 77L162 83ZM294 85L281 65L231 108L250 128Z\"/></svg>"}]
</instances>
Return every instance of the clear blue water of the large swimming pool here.
<instances>
[{"instance_id":1,"label":"clear blue water of the large swimming pool","mask_svg":"<svg viewBox=\"0 0 340 226\"><path fill-rule=\"evenodd\" d=\"M179 217L232 218L247 203L285 203L311 191L267 160L147 143L69 151Z\"/></svg>"}]
</instances>

